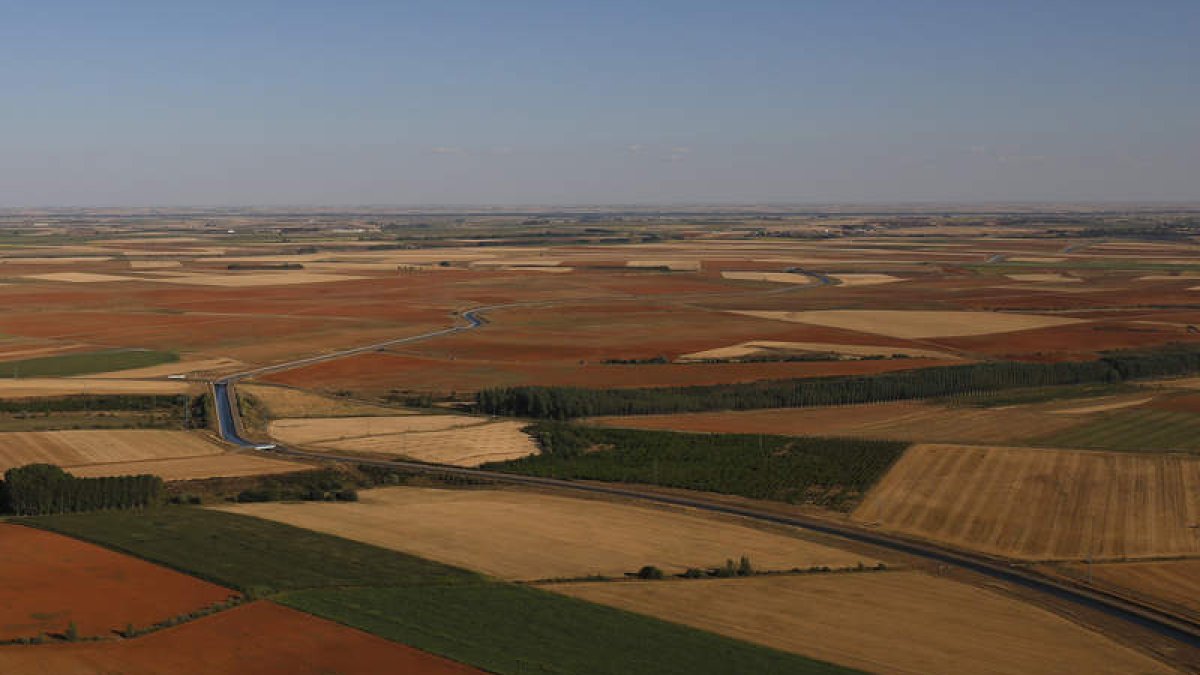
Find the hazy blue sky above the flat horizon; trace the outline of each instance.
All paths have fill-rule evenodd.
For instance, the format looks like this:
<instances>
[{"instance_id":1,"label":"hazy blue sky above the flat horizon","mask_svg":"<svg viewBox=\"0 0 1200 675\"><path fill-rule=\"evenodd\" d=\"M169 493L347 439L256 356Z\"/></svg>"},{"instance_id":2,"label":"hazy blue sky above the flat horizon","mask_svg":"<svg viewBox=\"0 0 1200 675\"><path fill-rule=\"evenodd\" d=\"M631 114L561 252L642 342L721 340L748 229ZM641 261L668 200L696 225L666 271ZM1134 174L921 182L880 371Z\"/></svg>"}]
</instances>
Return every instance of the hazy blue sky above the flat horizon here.
<instances>
[{"instance_id":1,"label":"hazy blue sky above the flat horizon","mask_svg":"<svg viewBox=\"0 0 1200 675\"><path fill-rule=\"evenodd\" d=\"M1200 1L0 0L0 207L1200 202Z\"/></svg>"}]
</instances>

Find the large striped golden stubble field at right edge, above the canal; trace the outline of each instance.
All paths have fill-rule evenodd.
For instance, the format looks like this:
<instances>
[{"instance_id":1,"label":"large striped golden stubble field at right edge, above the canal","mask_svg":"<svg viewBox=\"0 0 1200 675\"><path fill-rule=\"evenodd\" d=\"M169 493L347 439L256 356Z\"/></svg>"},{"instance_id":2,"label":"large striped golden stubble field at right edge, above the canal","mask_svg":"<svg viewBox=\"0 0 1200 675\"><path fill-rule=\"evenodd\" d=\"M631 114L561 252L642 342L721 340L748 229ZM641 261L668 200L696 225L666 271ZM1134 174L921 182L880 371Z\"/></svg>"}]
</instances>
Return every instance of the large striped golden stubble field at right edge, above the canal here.
<instances>
[{"instance_id":1,"label":"large striped golden stubble field at right edge, above the canal","mask_svg":"<svg viewBox=\"0 0 1200 675\"><path fill-rule=\"evenodd\" d=\"M1195 555L1200 460L914 446L853 518L1024 560Z\"/></svg>"}]
</instances>

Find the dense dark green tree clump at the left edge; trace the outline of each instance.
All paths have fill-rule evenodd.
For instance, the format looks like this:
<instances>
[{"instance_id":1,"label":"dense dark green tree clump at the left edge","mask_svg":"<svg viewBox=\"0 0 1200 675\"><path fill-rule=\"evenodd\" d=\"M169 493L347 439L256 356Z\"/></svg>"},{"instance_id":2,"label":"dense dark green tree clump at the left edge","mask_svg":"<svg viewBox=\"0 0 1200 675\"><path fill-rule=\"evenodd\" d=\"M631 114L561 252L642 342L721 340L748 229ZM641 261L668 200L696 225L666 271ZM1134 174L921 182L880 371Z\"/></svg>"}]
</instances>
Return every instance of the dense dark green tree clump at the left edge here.
<instances>
[{"instance_id":1,"label":"dense dark green tree clump at the left edge","mask_svg":"<svg viewBox=\"0 0 1200 675\"><path fill-rule=\"evenodd\" d=\"M5 472L0 482L0 510L46 515L143 508L160 502L162 486L157 476L77 478L54 465L30 464Z\"/></svg>"}]
</instances>

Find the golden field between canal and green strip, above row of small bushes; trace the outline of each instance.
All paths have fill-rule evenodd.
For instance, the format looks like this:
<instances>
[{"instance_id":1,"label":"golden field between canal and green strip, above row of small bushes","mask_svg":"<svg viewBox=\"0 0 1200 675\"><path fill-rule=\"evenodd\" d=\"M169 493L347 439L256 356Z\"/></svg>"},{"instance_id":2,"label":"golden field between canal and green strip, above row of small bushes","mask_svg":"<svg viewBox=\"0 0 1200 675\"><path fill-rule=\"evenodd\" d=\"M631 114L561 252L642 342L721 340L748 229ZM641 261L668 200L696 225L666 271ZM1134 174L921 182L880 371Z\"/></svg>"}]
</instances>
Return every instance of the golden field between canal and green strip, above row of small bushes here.
<instances>
[{"instance_id":1,"label":"golden field between canal and green strip, above row of small bushes","mask_svg":"<svg viewBox=\"0 0 1200 675\"><path fill-rule=\"evenodd\" d=\"M504 579L620 577L646 565L683 572L742 555L761 569L876 562L734 519L516 490L383 488L358 503L220 508Z\"/></svg>"}]
</instances>

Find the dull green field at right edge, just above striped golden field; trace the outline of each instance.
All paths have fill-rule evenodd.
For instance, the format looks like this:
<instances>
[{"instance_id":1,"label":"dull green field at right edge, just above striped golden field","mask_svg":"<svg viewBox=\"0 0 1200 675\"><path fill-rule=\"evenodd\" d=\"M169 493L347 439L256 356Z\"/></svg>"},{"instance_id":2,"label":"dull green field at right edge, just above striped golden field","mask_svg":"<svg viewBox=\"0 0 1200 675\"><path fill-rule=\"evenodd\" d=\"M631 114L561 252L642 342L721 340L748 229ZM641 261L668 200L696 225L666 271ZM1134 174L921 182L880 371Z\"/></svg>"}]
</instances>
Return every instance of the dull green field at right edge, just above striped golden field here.
<instances>
[{"instance_id":1,"label":"dull green field at right edge, just above striped golden field","mask_svg":"<svg viewBox=\"0 0 1200 675\"><path fill-rule=\"evenodd\" d=\"M1165 410L1105 413L1030 440L1032 446L1122 452L1200 450L1200 414Z\"/></svg>"}]
</instances>

